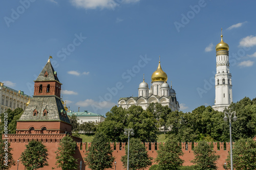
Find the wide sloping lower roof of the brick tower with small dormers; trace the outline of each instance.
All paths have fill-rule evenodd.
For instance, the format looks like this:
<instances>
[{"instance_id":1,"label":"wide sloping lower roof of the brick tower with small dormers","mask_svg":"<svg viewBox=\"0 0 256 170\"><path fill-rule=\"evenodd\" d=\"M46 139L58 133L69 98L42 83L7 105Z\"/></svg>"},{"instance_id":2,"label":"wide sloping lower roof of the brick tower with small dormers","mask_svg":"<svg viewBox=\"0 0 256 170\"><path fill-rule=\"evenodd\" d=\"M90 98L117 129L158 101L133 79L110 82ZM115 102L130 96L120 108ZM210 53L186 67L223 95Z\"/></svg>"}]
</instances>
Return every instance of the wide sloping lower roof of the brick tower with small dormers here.
<instances>
[{"instance_id":1,"label":"wide sloping lower roof of the brick tower with small dormers","mask_svg":"<svg viewBox=\"0 0 256 170\"><path fill-rule=\"evenodd\" d=\"M38 112L36 116L33 115L35 109ZM48 111L46 116L43 115L45 109ZM66 111L56 96L34 96L19 120L61 120L70 124L68 116L62 116L61 112Z\"/></svg>"}]
</instances>

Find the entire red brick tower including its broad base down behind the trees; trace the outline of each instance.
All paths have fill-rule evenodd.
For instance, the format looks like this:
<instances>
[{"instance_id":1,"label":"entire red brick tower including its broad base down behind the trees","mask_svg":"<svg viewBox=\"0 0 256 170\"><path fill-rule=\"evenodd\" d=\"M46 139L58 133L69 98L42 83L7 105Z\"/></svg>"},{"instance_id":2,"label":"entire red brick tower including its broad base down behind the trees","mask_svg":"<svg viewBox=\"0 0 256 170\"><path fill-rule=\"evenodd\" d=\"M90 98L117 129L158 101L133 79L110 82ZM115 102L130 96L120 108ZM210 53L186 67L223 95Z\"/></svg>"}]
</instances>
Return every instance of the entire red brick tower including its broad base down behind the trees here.
<instances>
[{"instance_id":1,"label":"entire red brick tower including its broad base down behind the trees","mask_svg":"<svg viewBox=\"0 0 256 170\"><path fill-rule=\"evenodd\" d=\"M61 103L61 83L58 80L57 72L52 67L50 58L34 81L33 98L17 120L16 134L8 134L8 137L2 135L2 137L11 143L14 160L20 158L29 141L42 141L48 149L49 166L40 169L48 170L55 167L56 170L61 170L55 165L55 151L57 151L60 140L71 135L72 125ZM81 138L74 136L72 138L77 142L82 142ZM79 158L79 161L81 160L82 158ZM19 168L24 169L25 167L20 163ZM17 165L12 166L11 169L17 169Z\"/></svg>"}]
</instances>

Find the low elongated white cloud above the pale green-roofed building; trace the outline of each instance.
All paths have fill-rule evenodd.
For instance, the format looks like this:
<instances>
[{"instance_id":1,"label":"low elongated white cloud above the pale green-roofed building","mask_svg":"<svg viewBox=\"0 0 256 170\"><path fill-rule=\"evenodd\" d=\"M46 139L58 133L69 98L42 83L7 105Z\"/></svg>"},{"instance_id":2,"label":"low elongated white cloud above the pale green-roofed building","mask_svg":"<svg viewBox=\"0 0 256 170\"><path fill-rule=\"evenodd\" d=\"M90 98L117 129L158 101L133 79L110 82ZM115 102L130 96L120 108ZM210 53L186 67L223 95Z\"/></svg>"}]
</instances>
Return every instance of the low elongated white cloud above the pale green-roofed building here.
<instances>
[{"instance_id":1,"label":"low elongated white cloud above the pale green-roofed building","mask_svg":"<svg viewBox=\"0 0 256 170\"><path fill-rule=\"evenodd\" d=\"M113 102L107 102L107 101L97 102L97 101L94 101L93 99L87 99L84 101L77 102L76 105L80 107L93 106L94 108L103 109L103 108L112 108L116 104Z\"/></svg>"}]
</instances>

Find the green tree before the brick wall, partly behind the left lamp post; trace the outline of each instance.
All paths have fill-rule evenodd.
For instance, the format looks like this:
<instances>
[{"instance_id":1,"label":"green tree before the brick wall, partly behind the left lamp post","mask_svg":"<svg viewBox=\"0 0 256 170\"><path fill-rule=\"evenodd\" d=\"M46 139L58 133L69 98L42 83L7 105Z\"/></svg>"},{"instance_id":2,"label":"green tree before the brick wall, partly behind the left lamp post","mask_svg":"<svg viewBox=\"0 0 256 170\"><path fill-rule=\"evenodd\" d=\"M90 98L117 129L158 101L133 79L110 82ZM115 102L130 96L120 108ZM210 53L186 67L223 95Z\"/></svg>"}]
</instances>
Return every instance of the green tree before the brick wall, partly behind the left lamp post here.
<instances>
[{"instance_id":1,"label":"green tree before the brick wall, partly behind the left lamp post","mask_svg":"<svg viewBox=\"0 0 256 170\"><path fill-rule=\"evenodd\" d=\"M121 161L123 166L127 167L127 145L125 146L125 155ZM152 164L153 158L148 156L144 144L138 138L131 138L129 148L129 169L145 169Z\"/></svg>"}]
</instances>

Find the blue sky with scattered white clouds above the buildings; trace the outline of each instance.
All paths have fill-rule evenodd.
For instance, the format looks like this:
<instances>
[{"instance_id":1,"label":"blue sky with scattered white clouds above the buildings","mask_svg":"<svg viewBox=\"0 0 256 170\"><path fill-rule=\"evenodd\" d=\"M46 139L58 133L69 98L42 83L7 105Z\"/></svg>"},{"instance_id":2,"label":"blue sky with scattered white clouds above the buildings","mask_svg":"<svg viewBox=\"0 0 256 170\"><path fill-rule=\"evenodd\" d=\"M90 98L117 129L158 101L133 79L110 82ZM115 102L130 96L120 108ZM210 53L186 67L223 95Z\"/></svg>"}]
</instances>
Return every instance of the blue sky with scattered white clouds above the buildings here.
<instances>
[{"instance_id":1,"label":"blue sky with scattered white clouds above the buildings","mask_svg":"<svg viewBox=\"0 0 256 170\"><path fill-rule=\"evenodd\" d=\"M214 105L215 46L229 44L233 101L256 97L254 1L0 1L0 81L33 95L49 55L71 110L105 114L161 66L181 110ZM214 72L214 73L213 73ZM104 101L104 102L103 102Z\"/></svg>"}]
</instances>

